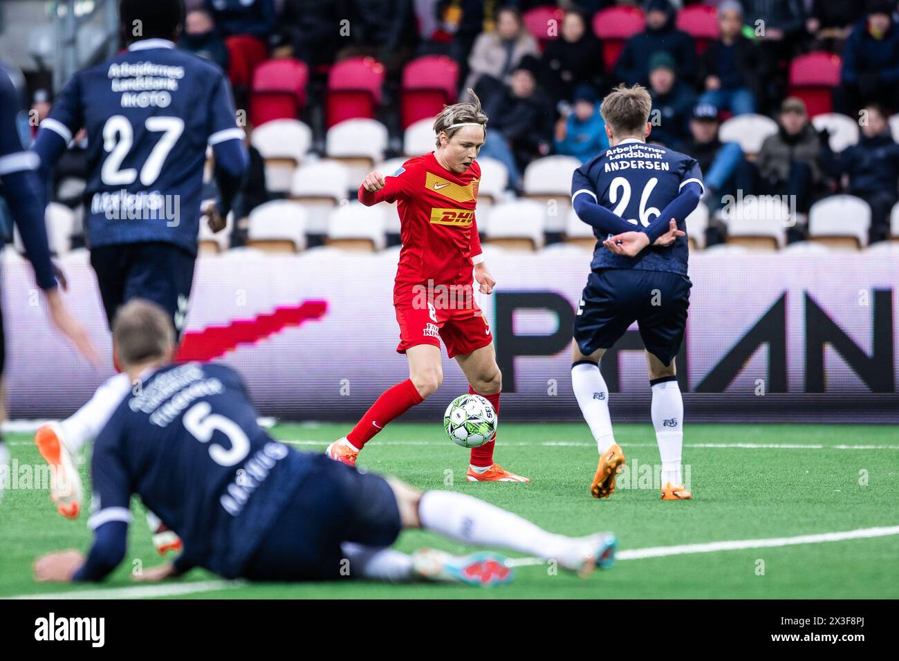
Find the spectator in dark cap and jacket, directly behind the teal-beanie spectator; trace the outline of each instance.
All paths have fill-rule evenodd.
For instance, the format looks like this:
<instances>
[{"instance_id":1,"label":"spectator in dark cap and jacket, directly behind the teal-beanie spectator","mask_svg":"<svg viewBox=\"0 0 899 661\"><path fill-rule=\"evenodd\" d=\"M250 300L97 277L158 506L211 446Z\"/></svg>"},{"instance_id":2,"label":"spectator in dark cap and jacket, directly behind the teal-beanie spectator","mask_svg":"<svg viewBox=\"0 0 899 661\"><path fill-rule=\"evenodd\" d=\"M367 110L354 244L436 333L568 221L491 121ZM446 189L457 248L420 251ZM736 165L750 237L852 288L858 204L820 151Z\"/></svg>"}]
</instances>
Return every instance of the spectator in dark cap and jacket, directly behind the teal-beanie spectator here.
<instances>
[{"instance_id":1,"label":"spectator in dark cap and jacket, directly behind the teal-beanie spectator","mask_svg":"<svg viewBox=\"0 0 899 661\"><path fill-rule=\"evenodd\" d=\"M696 49L693 38L674 27L675 10L669 0L649 0L645 4L646 29L625 41L613 83L646 85L649 61L656 53L667 52L677 63L677 77L692 83L696 76Z\"/></svg>"}]
</instances>

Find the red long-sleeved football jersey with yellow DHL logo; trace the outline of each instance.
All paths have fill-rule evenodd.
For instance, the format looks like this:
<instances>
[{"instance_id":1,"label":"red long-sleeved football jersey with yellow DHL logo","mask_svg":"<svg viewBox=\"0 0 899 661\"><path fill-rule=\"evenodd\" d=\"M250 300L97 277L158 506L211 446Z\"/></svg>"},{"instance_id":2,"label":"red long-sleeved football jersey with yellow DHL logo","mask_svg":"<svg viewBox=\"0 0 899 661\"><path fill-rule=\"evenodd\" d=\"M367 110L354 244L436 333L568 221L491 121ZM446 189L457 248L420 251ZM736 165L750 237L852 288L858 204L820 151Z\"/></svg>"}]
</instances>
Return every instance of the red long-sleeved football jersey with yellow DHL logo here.
<instances>
[{"instance_id":1,"label":"red long-sleeved football jersey with yellow DHL logo","mask_svg":"<svg viewBox=\"0 0 899 661\"><path fill-rule=\"evenodd\" d=\"M470 285L472 257L481 254L475 205L481 166L473 162L462 174L450 172L433 152L407 160L385 174L378 192L360 186L368 206L396 201L403 247L396 268L395 292L410 285Z\"/></svg>"}]
</instances>

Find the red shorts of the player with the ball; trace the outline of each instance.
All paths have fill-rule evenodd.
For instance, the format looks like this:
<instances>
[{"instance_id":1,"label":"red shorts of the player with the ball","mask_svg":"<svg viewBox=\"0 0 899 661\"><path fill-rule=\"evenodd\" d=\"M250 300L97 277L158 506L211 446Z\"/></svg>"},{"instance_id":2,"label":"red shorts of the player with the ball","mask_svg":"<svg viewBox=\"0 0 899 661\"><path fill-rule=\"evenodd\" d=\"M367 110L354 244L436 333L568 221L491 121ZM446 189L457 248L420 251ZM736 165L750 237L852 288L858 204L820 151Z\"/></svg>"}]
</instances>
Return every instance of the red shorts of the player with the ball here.
<instances>
[{"instance_id":1,"label":"red shorts of the player with the ball","mask_svg":"<svg viewBox=\"0 0 899 661\"><path fill-rule=\"evenodd\" d=\"M417 344L439 347L446 344L450 358L472 353L494 341L487 317L474 300L465 308L435 308L433 304L415 305L411 297L396 297L396 321L399 323L397 353Z\"/></svg>"}]
</instances>

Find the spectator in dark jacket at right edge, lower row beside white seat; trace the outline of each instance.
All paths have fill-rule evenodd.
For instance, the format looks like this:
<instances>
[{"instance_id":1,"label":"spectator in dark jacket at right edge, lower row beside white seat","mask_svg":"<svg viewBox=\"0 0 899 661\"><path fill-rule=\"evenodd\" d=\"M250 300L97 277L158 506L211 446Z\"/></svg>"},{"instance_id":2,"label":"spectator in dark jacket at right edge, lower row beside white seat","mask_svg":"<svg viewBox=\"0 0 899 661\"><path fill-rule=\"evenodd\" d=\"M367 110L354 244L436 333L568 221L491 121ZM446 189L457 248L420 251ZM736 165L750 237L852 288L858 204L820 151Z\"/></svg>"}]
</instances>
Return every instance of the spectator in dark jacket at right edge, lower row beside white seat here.
<instances>
[{"instance_id":1,"label":"spectator in dark jacket at right edge, lower row beside white seat","mask_svg":"<svg viewBox=\"0 0 899 661\"><path fill-rule=\"evenodd\" d=\"M889 236L890 211L899 201L899 145L890 133L884 109L874 103L861 116L861 136L856 145L846 147L834 158L823 141L825 162L842 189L868 202L871 207L870 243Z\"/></svg>"}]
</instances>

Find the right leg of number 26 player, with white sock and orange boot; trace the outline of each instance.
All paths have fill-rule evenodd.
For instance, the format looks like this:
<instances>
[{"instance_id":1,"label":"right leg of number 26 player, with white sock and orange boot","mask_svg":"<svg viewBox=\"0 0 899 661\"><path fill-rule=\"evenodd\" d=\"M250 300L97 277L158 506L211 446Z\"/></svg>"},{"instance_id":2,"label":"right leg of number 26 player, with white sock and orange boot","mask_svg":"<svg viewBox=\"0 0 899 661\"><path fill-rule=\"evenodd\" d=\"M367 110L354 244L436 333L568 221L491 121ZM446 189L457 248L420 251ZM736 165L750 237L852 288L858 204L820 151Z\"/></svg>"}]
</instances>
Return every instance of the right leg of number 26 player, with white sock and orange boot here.
<instances>
[{"instance_id":1,"label":"right leg of number 26 player, with white sock and orange boot","mask_svg":"<svg viewBox=\"0 0 899 661\"><path fill-rule=\"evenodd\" d=\"M651 353L649 384L653 389L652 416L655 441L662 459L662 500L690 500L683 486L681 452L683 448L683 398L675 375L674 361L666 366Z\"/></svg>"}]
</instances>

